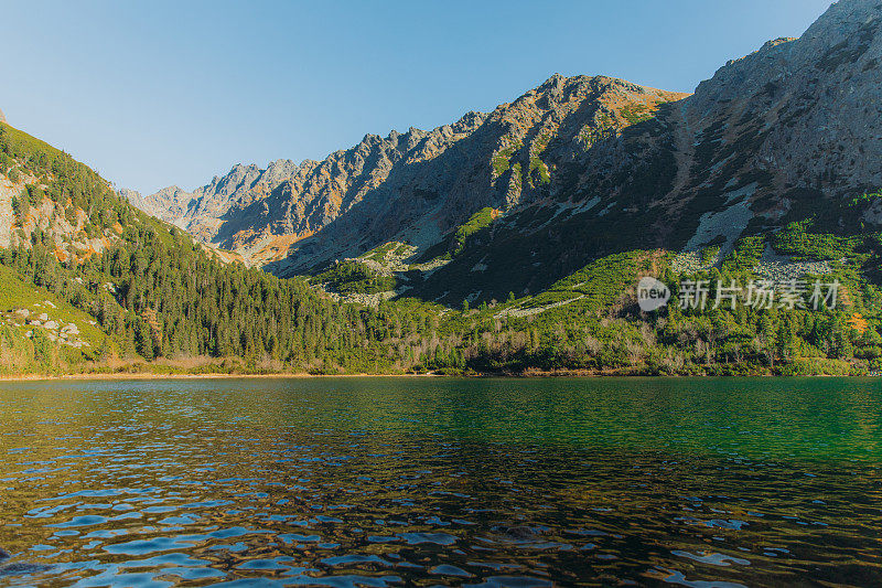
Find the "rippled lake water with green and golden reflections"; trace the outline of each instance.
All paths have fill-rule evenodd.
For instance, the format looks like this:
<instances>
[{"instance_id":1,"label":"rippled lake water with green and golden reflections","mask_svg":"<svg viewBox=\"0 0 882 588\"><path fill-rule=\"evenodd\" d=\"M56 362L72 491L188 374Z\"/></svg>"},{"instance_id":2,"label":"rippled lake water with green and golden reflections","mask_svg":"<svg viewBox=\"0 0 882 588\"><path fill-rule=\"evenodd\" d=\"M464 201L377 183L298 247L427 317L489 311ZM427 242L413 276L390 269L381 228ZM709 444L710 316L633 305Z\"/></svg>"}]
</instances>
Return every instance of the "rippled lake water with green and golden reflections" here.
<instances>
[{"instance_id":1,"label":"rippled lake water with green and golden reflections","mask_svg":"<svg viewBox=\"0 0 882 588\"><path fill-rule=\"evenodd\" d=\"M876 379L0 383L0 585L882 585Z\"/></svg>"}]
</instances>

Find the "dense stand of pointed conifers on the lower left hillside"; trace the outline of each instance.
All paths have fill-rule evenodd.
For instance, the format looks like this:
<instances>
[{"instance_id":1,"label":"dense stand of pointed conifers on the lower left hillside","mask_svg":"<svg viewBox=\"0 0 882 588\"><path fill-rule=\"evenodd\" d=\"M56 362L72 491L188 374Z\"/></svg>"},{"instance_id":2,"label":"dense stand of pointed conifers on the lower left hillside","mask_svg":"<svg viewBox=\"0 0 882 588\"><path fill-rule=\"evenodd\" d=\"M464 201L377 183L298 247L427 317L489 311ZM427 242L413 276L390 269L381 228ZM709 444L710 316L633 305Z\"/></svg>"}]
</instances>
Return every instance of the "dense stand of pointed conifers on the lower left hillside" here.
<instances>
[{"instance_id":1,"label":"dense stand of pointed conifers on the lower left hillside","mask_svg":"<svg viewBox=\"0 0 882 588\"><path fill-rule=\"evenodd\" d=\"M131 229L73 267L39 235L31 247L3 252L3 263L94 316L121 357L236 356L275 370L378 371L395 362L399 340L426 327L395 306L341 304L300 279L224 266L179 231L166 244L151 228Z\"/></svg>"}]
</instances>

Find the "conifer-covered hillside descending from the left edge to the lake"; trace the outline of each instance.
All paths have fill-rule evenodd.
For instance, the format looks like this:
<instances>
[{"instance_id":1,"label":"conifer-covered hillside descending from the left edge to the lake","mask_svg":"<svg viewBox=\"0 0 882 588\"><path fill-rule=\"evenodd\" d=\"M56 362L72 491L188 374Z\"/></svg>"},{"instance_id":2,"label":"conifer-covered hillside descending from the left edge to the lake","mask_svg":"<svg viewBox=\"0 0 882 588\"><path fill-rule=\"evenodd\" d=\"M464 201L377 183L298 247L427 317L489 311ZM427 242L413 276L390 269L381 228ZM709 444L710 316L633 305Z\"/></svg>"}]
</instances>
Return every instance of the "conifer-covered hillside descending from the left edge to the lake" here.
<instances>
[{"instance_id":1,"label":"conifer-covered hillside descending from the left edge to the lake","mask_svg":"<svg viewBox=\"0 0 882 588\"><path fill-rule=\"evenodd\" d=\"M62 365L22 341L45 328L17 314L22 304L2 292L3 349L26 350L3 353L8 373L197 356L226 359L223 368L374 371L388 363L392 327L423 327L412 313L335 303L302 280L225 265L186 233L133 209L86 165L4 124L0 153L0 173L18 191L3 264L94 317L107 340ZM96 238L100 250L73 246Z\"/></svg>"}]
</instances>

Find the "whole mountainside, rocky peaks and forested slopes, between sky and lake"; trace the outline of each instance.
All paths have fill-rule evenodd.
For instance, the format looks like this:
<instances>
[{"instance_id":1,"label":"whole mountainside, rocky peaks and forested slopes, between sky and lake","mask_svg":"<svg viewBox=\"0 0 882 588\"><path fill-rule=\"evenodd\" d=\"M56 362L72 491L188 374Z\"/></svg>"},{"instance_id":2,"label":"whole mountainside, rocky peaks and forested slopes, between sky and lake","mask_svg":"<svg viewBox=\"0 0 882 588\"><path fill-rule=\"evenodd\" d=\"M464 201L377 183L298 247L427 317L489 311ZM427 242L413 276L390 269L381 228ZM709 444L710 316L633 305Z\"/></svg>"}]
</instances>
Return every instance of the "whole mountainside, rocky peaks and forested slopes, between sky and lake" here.
<instances>
[{"instance_id":1,"label":"whole mountainside, rocky peaks and forested slopes, between sky and lake","mask_svg":"<svg viewBox=\"0 0 882 588\"><path fill-rule=\"evenodd\" d=\"M237 168L201 207L150 200L197 234L223 216L290 279L0 122L0 371L882 372L879 63L882 6L842 0L688 98L553 76L430 133ZM272 239L313 231L282 259ZM667 304L641 307L647 277Z\"/></svg>"}]
</instances>

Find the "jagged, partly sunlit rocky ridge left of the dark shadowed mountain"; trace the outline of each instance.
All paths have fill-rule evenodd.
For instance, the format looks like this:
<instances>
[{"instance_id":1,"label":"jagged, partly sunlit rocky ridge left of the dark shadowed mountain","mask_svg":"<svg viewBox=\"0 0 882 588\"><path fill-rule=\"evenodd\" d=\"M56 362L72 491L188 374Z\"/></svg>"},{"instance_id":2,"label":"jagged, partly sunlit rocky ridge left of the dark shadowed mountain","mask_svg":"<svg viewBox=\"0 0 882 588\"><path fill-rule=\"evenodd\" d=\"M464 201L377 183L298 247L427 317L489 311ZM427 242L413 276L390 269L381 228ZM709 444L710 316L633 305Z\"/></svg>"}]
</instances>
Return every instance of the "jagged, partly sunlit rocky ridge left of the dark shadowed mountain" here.
<instances>
[{"instance_id":1,"label":"jagged, partly sunlit rocky ridge left of the dark shadowed mountain","mask_svg":"<svg viewBox=\"0 0 882 588\"><path fill-rule=\"evenodd\" d=\"M477 209L512 210L549 194L562 162L682 94L620 79L555 75L491 114L423 131L367 135L325 160L237 165L187 194L137 205L224 247L257 252L288 236L279 266L306 269L396 238L437 243Z\"/></svg>"}]
</instances>

